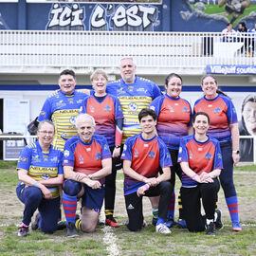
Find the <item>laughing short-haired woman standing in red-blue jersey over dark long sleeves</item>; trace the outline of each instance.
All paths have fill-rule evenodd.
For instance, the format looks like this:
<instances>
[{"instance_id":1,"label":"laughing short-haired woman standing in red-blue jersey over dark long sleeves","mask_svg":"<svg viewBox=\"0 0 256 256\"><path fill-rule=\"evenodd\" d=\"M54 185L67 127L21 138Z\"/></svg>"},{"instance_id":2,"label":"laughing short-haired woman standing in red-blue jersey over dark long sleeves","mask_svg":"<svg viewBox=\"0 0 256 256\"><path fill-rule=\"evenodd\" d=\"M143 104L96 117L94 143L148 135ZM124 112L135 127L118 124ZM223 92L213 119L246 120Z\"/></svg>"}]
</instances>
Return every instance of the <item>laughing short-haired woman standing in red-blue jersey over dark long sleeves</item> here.
<instances>
[{"instance_id":1,"label":"laughing short-haired woman standing in red-blue jersey over dark long sleeves","mask_svg":"<svg viewBox=\"0 0 256 256\"><path fill-rule=\"evenodd\" d=\"M82 101L81 113L87 113L95 119L96 135L104 136L107 139L112 153L112 174L105 178L105 215L106 225L119 227L113 217L115 196L117 157L120 155L122 139L123 115L119 99L106 93L108 78L103 70L96 70L91 75L91 82L94 93Z\"/></svg>"}]
</instances>

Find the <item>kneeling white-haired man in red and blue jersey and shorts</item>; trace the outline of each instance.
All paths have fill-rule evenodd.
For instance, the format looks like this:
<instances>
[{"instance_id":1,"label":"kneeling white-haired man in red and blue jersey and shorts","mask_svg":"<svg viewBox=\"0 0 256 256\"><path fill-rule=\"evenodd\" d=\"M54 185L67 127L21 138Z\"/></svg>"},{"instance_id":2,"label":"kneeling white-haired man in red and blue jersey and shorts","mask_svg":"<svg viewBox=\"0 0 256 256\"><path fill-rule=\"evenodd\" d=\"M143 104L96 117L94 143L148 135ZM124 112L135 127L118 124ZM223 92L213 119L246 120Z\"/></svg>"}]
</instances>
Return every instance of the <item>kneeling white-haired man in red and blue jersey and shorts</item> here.
<instances>
[{"instance_id":1,"label":"kneeling white-haired man in red and blue jersey and shorts","mask_svg":"<svg viewBox=\"0 0 256 256\"><path fill-rule=\"evenodd\" d=\"M76 119L78 136L64 145L63 206L67 236L78 236L75 227L77 200L82 197L81 229L93 232L104 198L104 177L111 174L111 153L105 137L94 135L95 120L88 114Z\"/></svg>"}]
</instances>

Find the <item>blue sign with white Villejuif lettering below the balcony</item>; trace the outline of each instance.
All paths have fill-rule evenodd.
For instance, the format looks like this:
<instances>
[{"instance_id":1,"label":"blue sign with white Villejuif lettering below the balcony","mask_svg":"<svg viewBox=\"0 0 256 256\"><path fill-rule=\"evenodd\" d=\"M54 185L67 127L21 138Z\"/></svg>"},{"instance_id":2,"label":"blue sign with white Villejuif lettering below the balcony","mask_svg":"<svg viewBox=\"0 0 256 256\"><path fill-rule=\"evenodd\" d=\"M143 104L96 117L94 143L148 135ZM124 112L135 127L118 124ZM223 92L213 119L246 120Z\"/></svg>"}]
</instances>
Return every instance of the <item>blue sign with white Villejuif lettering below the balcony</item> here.
<instances>
[{"instance_id":1,"label":"blue sign with white Villejuif lettering below the balcony","mask_svg":"<svg viewBox=\"0 0 256 256\"><path fill-rule=\"evenodd\" d=\"M256 65L208 64L207 74L256 75Z\"/></svg>"}]
</instances>

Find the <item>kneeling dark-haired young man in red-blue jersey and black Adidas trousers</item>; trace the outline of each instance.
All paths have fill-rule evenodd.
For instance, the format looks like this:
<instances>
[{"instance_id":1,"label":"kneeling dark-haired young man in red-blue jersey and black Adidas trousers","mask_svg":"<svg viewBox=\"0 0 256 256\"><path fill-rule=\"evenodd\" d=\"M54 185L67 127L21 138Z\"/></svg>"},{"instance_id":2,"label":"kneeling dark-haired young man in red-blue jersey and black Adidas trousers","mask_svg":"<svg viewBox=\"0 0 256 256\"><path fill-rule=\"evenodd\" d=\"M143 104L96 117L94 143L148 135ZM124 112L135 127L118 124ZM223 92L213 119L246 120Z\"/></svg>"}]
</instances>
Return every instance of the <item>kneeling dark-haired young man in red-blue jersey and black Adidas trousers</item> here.
<instances>
[{"instance_id":1,"label":"kneeling dark-haired young man in red-blue jersey and black Adidas trousers","mask_svg":"<svg viewBox=\"0 0 256 256\"><path fill-rule=\"evenodd\" d=\"M171 155L164 142L155 135L156 113L144 108L138 114L142 133L127 138L123 147L124 196L129 217L128 229L137 231L143 225L142 196L160 195L156 232L169 234L164 223L173 186ZM160 168L162 172L158 175Z\"/></svg>"}]
</instances>

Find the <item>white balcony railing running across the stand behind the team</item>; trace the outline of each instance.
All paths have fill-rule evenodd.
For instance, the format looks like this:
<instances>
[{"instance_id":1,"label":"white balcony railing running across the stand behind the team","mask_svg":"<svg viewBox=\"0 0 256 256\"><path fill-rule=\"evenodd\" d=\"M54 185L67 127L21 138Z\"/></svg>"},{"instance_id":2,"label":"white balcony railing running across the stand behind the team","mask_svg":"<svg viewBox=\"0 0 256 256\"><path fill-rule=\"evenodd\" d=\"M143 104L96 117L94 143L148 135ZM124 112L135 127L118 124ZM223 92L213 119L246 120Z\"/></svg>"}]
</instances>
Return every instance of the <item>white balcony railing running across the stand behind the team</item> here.
<instances>
[{"instance_id":1,"label":"white balcony railing running across the stand behind the team","mask_svg":"<svg viewBox=\"0 0 256 256\"><path fill-rule=\"evenodd\" d=\"M255 45L254 33L227 39L209 32L0 30L0 67L25 73L31 67L113 68L125 55L145 69L255 65Z\"/></svg>"}]
</instances>

